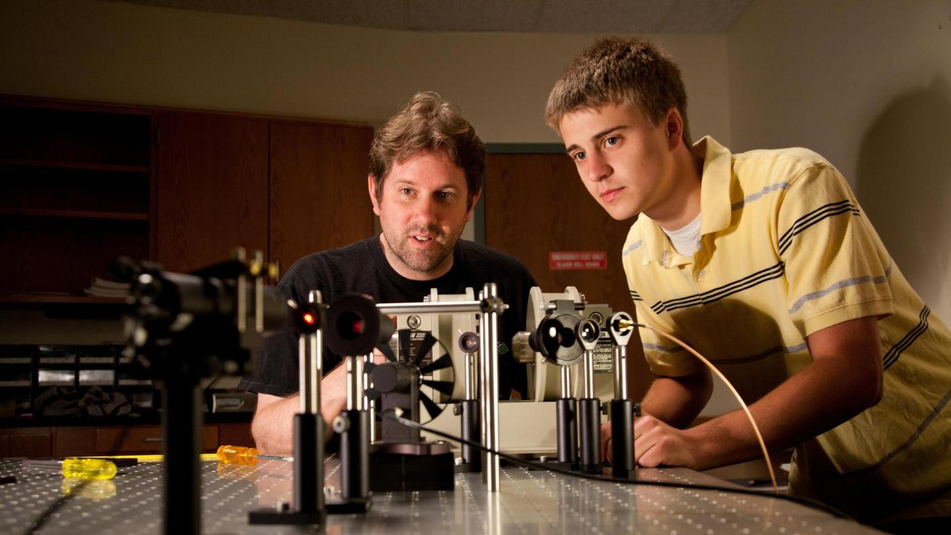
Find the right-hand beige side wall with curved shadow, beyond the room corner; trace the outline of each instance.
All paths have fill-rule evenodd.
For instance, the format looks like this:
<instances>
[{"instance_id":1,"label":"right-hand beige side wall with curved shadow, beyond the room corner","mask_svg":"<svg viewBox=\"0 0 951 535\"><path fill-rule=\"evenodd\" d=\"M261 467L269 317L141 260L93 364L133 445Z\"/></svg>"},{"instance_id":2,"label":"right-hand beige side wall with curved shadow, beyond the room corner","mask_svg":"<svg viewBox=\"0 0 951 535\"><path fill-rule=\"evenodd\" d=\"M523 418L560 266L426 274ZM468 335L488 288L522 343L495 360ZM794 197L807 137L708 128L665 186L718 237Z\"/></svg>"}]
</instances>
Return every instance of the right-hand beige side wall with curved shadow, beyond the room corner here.
<instances>
[{"instance_id":1,"label":"right-hand beige side wall with curved shadow, beyond the room corner","mask_svg":"<svg viewBox=\"0 0 951 535\"><path fill-rule=\"evenodd\" d=\"M951 320L951 1L756 0L728 49L732 148L822 153Z\"/></svg>"}]
</instances>

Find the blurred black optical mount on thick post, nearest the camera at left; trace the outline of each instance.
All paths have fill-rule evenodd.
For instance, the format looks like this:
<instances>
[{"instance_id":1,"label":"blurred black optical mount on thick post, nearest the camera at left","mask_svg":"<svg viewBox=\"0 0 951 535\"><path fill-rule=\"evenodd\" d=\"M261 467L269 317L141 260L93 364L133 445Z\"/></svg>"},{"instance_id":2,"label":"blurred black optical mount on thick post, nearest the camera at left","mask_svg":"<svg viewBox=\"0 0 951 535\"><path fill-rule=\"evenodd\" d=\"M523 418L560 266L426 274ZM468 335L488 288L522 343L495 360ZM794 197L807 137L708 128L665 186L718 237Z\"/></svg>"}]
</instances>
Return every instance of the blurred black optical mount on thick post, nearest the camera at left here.
<instances>
[{"instance_id":1,"label":"blurred black optical mount on thick post, nearest the camera at left","mask_svg":"<svg viewBox=\"0 0 951 535\"><path fill-rule=\"evenodd\" d=\"M152 262L119 259L116 279L129 283L125 355L162 381L165 453L164 530L197 535L201 517L201 391L203 377L239 375L262 338L288 318L287 300L265 287L260 252L192 274Z\"/></svg>"}]
</instances>

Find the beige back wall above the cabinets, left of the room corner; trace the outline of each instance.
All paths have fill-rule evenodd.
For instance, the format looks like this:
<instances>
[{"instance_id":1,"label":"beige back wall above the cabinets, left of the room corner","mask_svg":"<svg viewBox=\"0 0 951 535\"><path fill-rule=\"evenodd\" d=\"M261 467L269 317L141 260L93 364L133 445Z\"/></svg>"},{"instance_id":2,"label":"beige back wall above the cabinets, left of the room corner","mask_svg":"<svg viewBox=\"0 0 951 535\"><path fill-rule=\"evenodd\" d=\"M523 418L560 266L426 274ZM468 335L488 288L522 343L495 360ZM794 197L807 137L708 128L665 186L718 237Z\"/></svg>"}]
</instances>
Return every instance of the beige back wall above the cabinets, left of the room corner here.
<instances>
[{"instance_id":1,"label":"beige back wall above the cabinets, left of the room corner","mask_svg":"<svg viewBox=\"0 0 951 535\"><path fill-rule=\"evenodd\" d=\"M483 139L554 142L548 91L590 34L369 30L90 0L0 5L0 92L381 124L420 89ZM694 128L729 137L727 38L667 35Z\"/></svg>"}]
</instances>

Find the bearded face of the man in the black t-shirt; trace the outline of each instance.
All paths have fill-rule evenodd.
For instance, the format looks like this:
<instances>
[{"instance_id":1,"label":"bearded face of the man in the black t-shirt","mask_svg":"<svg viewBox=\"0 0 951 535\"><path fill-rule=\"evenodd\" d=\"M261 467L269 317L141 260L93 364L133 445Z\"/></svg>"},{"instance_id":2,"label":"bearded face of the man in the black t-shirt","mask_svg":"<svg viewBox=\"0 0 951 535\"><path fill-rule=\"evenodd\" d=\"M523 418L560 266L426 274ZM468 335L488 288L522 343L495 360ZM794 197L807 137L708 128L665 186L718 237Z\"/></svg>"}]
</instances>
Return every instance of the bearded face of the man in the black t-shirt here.
<instances>
[{"instance_id":1,"label":"bearded face of the man in the black t-shirt","mask_svg":"<svg viewBox=\"0 0 951 535\"><path fill-rule=\"evenodd\" d=\"M397 272L432 280L453 265L453 248L472 208L466 208L465 171L443 151L420 152L390 169L377 199L369 179L373 211L383 229L383 250ZM478 195L473 197L476 206Z\"/></svg>"}]
</instances>

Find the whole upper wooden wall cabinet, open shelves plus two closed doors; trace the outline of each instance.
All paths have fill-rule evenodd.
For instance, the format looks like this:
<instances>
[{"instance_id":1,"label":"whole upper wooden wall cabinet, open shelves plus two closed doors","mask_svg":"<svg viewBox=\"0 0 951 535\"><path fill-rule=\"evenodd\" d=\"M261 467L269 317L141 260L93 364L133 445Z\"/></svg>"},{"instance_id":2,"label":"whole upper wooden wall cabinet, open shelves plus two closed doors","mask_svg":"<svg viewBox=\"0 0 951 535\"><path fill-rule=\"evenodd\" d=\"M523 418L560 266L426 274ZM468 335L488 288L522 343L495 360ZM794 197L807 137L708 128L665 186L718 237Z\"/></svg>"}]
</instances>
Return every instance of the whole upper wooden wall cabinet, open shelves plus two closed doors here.
<instances>
[{"instance_id":1,"label":"whole upper wooden wall cabinet, open shelves plus two closed doors","mask_svg":"<svg viewBox=\"0 0 951 535\"><path fill-rule=\"evenodd\" d=\"M75 303L125 255L284 267L373 233L373 129L0 97L0 304Z\"/></svg>"}]
</instances>

